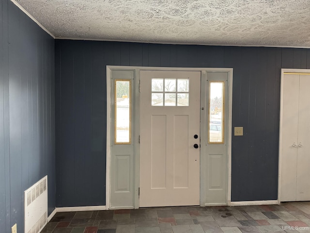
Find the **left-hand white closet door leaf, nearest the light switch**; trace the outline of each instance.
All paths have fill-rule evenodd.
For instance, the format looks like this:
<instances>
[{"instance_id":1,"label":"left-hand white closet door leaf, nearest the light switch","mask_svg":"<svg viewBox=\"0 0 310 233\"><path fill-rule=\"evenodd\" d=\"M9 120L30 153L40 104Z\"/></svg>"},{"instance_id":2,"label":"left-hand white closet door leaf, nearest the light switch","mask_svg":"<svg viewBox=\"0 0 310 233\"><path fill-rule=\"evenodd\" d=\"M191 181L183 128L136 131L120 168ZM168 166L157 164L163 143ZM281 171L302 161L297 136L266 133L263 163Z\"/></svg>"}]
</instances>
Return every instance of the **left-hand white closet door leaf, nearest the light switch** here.
<instances>
[{"instance_id":1,"label":"left-hand white closet door leaf, nearest the light switch","mask_svg":"<svg viewBox=\"0 0 310 233\"><path fill-rule=\"evenodd\" d=\"M281 192L280 201L296 200L297 130L299 78L285 74L282 80L280 151Z\"/></svg>"}]
</instances>

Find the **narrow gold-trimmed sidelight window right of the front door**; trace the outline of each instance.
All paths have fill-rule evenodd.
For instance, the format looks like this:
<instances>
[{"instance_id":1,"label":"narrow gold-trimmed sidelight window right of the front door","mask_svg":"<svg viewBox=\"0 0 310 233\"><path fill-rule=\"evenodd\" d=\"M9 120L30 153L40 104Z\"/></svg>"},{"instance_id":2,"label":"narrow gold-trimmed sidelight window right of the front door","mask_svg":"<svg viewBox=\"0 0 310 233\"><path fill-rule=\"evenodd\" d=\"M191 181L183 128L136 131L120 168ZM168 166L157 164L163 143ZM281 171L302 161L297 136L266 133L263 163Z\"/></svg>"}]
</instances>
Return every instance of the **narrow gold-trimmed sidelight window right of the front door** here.
<instances>
[{"instance_id":1,"label":"narrow gold-trimmed sidelight window right of the front door","mask_svg":"<svg viewBox=\"0 0 310 233\"><path fill-rule=\"evenodd\" d=\"M224 143L224 100L224 82L210 82L209 143Z\"/></svg>"}]
</instances>

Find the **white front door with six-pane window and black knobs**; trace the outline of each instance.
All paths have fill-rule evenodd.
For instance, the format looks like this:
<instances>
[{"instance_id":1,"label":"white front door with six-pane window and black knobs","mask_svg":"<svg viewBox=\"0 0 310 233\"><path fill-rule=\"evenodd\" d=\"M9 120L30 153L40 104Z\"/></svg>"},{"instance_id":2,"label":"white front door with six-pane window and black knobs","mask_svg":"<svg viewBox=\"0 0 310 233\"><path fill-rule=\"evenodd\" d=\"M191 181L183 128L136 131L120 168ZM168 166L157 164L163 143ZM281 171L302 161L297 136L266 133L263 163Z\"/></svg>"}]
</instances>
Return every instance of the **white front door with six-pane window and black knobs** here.
<instances>
[{"instance_id":1,"label":"white front door with six-pane window and black knobs","mask_svg":"<svg viewBox=\"0 0 310 233\"><path fill-rule=\"evenodd\" d=\"M140 71L140 207L199 205L200 71Z\"/></svg>"}]
</instances>

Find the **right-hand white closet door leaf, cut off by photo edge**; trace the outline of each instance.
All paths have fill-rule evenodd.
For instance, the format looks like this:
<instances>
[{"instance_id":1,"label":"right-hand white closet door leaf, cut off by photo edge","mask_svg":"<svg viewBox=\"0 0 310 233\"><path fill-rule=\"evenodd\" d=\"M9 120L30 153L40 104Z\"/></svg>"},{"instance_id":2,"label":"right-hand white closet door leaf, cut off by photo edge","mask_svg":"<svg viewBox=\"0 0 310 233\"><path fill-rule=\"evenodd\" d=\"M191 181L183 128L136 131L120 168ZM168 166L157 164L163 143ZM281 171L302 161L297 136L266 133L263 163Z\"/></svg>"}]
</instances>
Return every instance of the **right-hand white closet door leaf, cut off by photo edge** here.
<instances>
[{"instance_id":1,"label":"right-hand white closet door leaf, cut off by photo edge","mask_svg":"<svg viewBox=\"0 0 310 233\"><path fill-rule=\"evenodd\" d=\"M310 200L310 75L299 75L296 200ZM283 170L285 172L285 170Z\"/></svg>"}]
</instances>

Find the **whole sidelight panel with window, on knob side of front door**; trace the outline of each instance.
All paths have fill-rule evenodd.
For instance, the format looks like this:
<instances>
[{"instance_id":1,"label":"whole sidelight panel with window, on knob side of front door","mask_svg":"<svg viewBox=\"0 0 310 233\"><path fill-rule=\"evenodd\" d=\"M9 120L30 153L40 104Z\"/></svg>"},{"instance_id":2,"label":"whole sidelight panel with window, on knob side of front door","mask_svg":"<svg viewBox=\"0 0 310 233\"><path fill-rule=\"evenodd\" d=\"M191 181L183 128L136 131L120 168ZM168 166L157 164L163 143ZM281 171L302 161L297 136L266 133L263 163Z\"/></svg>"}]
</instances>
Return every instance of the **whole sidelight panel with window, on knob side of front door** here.
<instances>
[{"instance_id":1,"label":"whole sidelight panel with window, on knob side of front door","mask_svg":"<svg viewBox=\"0 0 310 233\"><path fill-rule=\"evenodd\" d=\"M227 203L228 73L207 72L205 204Z\"/></svg>"}]
</instances>

